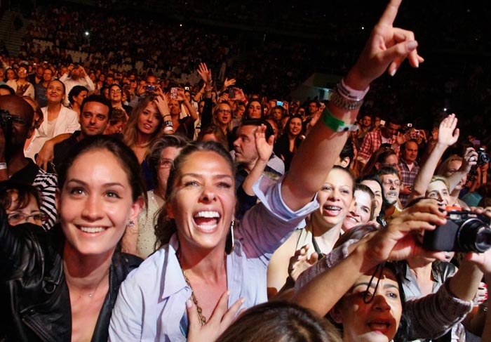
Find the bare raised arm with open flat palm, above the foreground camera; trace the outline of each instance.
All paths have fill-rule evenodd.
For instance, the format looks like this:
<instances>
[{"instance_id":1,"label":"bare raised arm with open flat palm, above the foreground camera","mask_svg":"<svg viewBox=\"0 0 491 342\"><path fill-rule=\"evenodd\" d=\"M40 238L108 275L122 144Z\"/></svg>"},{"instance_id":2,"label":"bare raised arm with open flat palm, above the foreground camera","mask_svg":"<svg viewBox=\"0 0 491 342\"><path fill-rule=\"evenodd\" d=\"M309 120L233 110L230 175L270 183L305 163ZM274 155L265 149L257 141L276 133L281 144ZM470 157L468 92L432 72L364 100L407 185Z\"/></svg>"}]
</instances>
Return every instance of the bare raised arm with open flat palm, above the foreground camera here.
<instances>
[{"instance_id":1,"label":"bare raised arm with open flat palm, above the foreground camera","mask_svg":"<svg viewBox=\"0 0 491 342\"><path fill-rule=\"evenodd\" d=\"M433 148L428 159L426 159L426 162L422 165L416 176L415 187L409 198L410 201L418 197L424 197L426 188L428 188L431 177L433 177L433 173L435 173L436 166L438 165L438 161L442 157L443 152L445 152L450 145L457 143L459 129L456 129L456 127L457 118L455 117L455 114L450 114L440 122L440 128L438 129L438 143L436 143L436 146Z\"/></svg>"}]
</instances>

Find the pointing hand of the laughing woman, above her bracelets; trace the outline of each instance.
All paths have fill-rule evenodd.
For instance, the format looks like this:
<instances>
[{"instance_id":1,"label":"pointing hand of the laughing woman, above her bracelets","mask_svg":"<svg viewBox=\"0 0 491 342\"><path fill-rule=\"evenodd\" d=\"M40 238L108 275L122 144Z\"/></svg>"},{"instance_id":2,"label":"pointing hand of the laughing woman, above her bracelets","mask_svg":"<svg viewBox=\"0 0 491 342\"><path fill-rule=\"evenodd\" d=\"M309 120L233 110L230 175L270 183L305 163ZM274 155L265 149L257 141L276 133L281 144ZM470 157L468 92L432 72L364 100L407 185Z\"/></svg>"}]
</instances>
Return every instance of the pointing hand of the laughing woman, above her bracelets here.
<instances>
[{"instance_id":1,"label":"pointing hand of the laughing woman, above her bracelets","mask_svg":"<svg viewBox=\"0 0 491 342\"><path fill-rule=\"evenodd\" d=\"M363 90L385 70L394 76L406 58L412 67L424 61L417 53L415 34L393 26L401 1L391 0L372 29L370 39L345 79L349 86Z\"/></svg>"}]
</instances>

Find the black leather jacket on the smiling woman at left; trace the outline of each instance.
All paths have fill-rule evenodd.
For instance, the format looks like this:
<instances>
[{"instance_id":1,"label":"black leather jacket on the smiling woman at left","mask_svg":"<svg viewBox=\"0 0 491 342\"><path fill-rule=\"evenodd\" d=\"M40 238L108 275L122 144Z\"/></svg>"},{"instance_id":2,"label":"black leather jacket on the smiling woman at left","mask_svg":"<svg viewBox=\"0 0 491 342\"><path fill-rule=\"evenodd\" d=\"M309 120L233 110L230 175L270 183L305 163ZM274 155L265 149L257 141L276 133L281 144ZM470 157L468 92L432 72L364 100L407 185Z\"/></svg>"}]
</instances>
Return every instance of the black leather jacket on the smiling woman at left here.
<instances>
[{"instance_id":1,"label":"black leather jacket on the smiling woman at left","mask_svg":"<svg viewBox=\"0 0 491 342\"><path fill-rule=\"evenodd\" d=\"M64 237L29 223L9 227L0 207L0 320L6 341L71 341L72 310L62 264ZM114 253L109 291L92 341L107 341L109 320L121 282L142 259Z\"/></svg>"}]
</instances>

